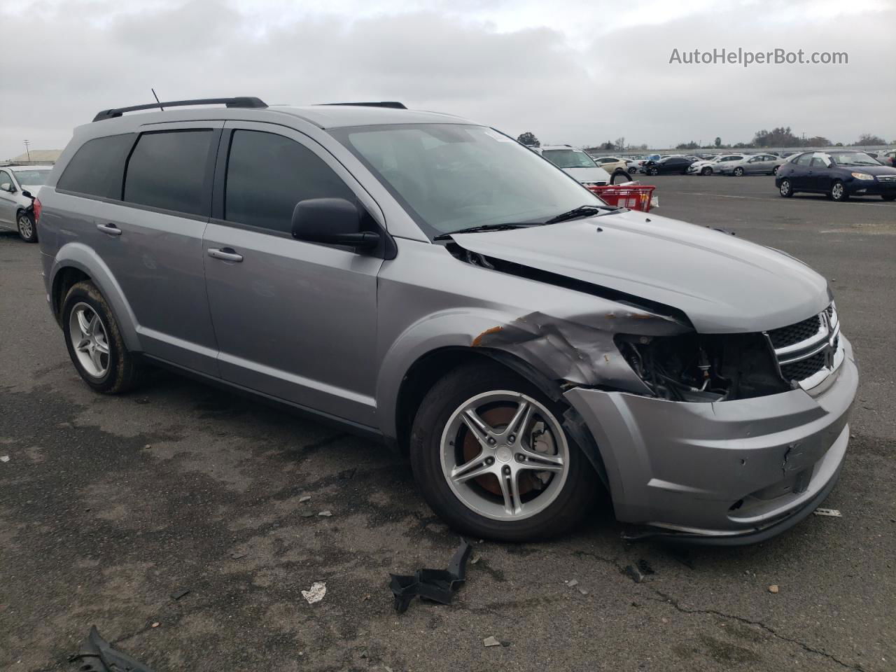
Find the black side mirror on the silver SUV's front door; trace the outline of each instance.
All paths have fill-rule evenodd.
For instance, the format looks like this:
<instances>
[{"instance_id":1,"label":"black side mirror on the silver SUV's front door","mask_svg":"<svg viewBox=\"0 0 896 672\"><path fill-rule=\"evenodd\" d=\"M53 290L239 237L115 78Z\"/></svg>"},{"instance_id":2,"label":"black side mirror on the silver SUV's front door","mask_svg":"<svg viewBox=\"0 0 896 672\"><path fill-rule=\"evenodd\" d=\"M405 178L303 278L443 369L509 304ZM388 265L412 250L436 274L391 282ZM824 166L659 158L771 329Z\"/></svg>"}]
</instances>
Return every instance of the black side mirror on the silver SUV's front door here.
<instances>
[{"instance_id":1,"label":"black side mirror on the silver SUV's front door","mask_svg":"<svg viewBox=\"0 0 896 672\"><path fill-rule=\"evenodd\" d=\"M344 198L308 198L292 211L292 237L309 243L369 249L379 245L380 235L361 230L358 206Z\"/></svg>"}]
</instances>

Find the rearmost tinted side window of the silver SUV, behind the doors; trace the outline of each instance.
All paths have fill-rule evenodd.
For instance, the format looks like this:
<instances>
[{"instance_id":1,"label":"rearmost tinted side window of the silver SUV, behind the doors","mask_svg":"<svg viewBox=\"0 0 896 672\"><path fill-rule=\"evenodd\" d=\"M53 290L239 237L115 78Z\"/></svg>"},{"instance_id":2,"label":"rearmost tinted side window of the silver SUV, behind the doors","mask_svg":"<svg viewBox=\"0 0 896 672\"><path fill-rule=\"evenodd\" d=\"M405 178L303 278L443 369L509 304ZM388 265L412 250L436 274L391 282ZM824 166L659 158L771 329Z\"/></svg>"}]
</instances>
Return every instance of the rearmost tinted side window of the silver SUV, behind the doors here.
<instances>
[{"instance_id":1,"label":"rearmost tinted side window of the silver SUV, behind the doors","mask_svg":"<svg viewBox=\"0 0 896 672\"><path fill-rule=\"evenodd\" d=\"M120 199L125 159L133 145L133 134L109 135L84 142L65 167L56 189Z\"/></svg>"}]
</instances>

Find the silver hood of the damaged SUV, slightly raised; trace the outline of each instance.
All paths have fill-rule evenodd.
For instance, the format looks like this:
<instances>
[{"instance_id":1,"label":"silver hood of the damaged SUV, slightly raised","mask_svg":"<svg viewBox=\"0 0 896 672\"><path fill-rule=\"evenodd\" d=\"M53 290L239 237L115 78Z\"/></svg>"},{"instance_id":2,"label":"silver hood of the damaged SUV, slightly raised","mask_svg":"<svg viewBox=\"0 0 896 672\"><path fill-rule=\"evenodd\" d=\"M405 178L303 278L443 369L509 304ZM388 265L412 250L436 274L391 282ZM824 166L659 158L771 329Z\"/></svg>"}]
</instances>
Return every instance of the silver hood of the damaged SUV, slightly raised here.
<instances>
[{"instance_id":1,"label":"silver hood of the damaged SUV, slightly raised","mask_svg":"<svg viewBox=\"0 0 896 672\"><path fill-rule=\"evenodd\" d=\"M831 302L827 281L787 254L643 212L453 238L478 254L675 307L702 333L776 329Z\"/></svg>"}]
</instances>

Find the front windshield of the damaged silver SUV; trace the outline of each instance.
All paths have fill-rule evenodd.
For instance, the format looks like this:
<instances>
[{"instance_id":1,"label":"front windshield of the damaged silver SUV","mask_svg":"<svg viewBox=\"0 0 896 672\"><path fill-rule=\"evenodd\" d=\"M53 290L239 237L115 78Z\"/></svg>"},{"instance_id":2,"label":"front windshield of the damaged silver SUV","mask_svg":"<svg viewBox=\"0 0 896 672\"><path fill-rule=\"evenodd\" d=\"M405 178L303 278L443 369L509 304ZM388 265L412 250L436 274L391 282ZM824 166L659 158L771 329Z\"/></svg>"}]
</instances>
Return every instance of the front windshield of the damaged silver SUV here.
<instances>
[{"instance_id":1,"label":"front windshield of the damaged silver SUV","mask_svg":"<svg viewBox=\"0 0 896 672\"><path fill-rule=\"evenodd\" d=\"M462 228L544 222L605 205L506 135L475 125L333 129L430 237Z\"/></svg>"}]
</instances>

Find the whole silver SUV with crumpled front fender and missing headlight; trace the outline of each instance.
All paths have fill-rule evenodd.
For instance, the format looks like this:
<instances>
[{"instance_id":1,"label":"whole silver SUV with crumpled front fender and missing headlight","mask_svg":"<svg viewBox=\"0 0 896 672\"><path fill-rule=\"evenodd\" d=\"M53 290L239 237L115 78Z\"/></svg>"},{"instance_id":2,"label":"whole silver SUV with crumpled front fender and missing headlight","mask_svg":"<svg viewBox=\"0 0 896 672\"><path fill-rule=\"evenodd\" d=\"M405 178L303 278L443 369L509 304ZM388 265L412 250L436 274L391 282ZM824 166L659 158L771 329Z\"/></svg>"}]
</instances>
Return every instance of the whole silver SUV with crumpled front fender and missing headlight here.
<instances>
[{"instance_id":1,"label":"whole silver SUV with crumpled front fender and missing headlight","mask_svg":"<svg viewBox=\"0 0 896 672\"><path fill-rule=\"evenodd\" d=\"M162 105L77 128L39 195L97 392L162 364L336 420L497 539L568 530L606 487L633 536L748 543L837 481L857 367L788 254L609 207L456 116Z\"/></svg>"}]
</instances>

